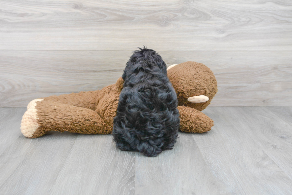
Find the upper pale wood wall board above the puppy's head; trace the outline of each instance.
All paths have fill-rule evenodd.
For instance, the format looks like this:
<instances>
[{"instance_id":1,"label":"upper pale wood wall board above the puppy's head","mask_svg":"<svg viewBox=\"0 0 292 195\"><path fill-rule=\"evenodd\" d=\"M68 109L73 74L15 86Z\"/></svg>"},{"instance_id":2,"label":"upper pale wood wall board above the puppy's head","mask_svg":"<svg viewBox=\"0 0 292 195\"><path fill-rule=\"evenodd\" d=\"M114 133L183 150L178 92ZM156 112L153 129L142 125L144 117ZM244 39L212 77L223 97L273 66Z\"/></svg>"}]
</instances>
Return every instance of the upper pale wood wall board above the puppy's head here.
<instances>
[{"instance_id":1,"label":"upper pale wood wall board above the puppy's head","mask_svg":"<svg viewBox=\"0 0 292 195\"><path fill-rule=\"evenodd\" d=\"M1 0L0 49L292 50L292 2Z\"/></svg>"}]
</instances>

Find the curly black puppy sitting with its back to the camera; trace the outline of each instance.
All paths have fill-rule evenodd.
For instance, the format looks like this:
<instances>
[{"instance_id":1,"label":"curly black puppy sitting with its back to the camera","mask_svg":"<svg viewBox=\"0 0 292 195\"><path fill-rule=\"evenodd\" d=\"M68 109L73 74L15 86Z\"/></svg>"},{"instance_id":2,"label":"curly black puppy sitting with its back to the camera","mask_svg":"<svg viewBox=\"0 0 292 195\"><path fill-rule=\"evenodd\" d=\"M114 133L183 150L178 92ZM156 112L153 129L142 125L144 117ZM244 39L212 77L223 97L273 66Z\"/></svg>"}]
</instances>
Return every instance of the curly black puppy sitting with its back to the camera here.
<instances>
[{"instance_id":1,"label":"curly black puppy sitting with its back to the camera","mask_svg":"<svg viewBox=\"0 0 292 195\"><path fill-rule=\"evenodd\" d=\"M119 96L113 135L121 150L155 157L173 149L178 137L179 113L166 64L152 49L139 48L127 62Z\"/></svg>"}]
</instances>

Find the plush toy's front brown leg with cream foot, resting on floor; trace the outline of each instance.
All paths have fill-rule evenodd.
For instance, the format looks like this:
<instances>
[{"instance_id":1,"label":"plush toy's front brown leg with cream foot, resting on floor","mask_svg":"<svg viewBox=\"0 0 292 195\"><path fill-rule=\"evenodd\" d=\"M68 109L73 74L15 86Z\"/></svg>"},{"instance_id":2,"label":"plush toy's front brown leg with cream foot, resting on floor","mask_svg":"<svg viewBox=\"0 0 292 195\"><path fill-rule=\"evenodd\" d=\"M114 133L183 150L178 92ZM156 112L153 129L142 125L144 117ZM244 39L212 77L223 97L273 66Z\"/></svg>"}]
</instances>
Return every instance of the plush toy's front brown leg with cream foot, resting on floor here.
<instances>
[{"instance_id":1,"label":"plush toy's front brown leg with cream foot, resting on floor","mask_svg":"<svg viewBox=\"0 0 292 195\"><path fill-rule=\"evenodd\" d=\"M38 138L48 131L109 134L112 127L94 110L44 99L32 100L22 118L21 132L28 138Z\"/></svg>"}]
</instances>

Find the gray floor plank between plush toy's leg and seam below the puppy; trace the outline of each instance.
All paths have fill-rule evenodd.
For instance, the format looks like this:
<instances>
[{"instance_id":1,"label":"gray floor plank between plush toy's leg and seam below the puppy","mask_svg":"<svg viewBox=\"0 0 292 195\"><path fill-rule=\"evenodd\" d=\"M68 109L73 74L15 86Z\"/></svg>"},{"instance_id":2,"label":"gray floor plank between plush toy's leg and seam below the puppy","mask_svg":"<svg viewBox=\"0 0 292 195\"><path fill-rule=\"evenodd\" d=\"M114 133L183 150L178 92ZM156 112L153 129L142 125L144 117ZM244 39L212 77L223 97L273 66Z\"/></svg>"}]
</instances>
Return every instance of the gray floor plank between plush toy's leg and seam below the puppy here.
<instances>
[{"instance_id":1,"label":"gray floor plank between plush toy's leg and seam below the puppy","mask_svg":"<svg viewBox=\"0 0 292 195\"><path fill-rule=\"evenodd\" d=\"M134 194L135 153L117 150L111 135L76 136L50 193Z\"/></svg>"}]
</instances>

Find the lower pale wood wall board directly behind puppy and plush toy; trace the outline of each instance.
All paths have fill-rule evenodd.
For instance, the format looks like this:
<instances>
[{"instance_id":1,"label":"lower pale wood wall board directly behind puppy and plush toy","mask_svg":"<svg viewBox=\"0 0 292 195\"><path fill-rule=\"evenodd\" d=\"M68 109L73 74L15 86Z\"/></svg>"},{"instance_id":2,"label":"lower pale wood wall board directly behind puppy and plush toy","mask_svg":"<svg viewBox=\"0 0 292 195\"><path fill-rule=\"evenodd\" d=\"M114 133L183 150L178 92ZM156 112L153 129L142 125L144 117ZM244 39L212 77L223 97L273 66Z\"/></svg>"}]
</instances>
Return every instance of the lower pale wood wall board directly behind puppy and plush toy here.
<instances>
[{"instance_id":1,"label":"lower pale wood wall board directly behind puppy and plush toy","mask_svg":"<svg viewBox=\"0 0 292 195\"><path fill-rule=\"evenodd\" d=\"M210 106L292 106L292 52L160 51L167 65L196 61L218 82ZM99 90L122 75L129 51L1 51L0 107Z\"/></svg>"}]
</instances>

